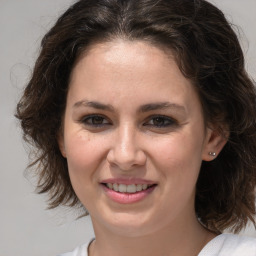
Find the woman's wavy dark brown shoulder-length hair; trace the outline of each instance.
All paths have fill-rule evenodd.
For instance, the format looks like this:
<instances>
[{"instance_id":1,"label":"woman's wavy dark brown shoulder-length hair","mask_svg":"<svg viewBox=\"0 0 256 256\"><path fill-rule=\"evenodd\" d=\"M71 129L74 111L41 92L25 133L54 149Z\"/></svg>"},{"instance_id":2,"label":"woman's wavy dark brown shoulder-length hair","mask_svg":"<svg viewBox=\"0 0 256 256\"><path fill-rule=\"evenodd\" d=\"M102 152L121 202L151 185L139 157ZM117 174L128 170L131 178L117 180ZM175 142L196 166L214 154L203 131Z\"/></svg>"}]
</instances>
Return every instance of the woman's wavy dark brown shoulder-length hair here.
<instances>
[{"instance_id":1,"label":"woman's wavy dark brown shoulder-length hair","mask_svg":"<svg viewBox=\"0 0 256 256\"><path fill-rule=\"evenodd\" d=\"M198 91L206 123L229 127L220 155L202 163L195 198L200 221L215 232L255 224L255 87L232 25L204 0L80 0L44 36L16 117L33 145L29 170L39 177L39 193L48 193L49 208L81 205L57 142L70 73L89 46L116 38L170 49Z\"/></svg>"}]
</instances>

